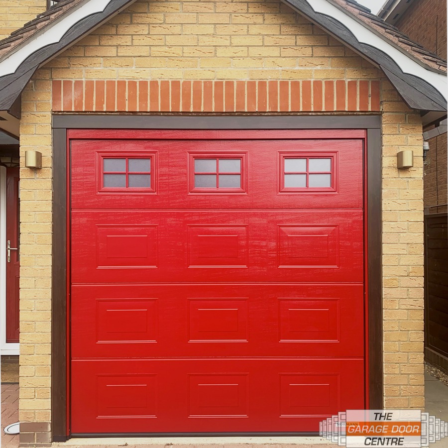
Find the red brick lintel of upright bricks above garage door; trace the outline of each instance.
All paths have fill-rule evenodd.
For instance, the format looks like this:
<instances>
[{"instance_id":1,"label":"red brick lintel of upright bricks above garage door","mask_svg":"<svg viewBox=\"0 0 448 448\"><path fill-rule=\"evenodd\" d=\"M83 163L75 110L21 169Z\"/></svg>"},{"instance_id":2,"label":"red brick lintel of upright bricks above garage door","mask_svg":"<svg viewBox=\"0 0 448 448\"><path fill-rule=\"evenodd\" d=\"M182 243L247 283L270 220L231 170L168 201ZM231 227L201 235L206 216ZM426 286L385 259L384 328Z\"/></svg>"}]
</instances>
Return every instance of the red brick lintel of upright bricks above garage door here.
<instances>
[{"instance_id":1,"label":"red brick lintel of upright bricks above garage door","mask_svg":"<svg viewBox=\"0 0 448 448\"><path fill-rule=\"evenodd\" d=\"M379 81L54 80L54 112L379 112Z\"/></svg>"}]
</instances>

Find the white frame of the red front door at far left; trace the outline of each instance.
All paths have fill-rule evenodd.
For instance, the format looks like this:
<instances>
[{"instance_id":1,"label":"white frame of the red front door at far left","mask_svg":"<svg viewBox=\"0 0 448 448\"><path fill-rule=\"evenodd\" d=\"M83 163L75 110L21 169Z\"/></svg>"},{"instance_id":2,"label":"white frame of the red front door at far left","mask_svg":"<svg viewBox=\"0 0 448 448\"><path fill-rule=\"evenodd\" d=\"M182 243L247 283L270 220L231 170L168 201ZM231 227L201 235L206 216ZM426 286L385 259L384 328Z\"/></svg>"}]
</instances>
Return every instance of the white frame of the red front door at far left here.
<instances>
[{"instance_id":1,"label":"white frame of the red front door at far left","mask_svg":"<svg viewBox=\"0 0 448 448\"><path fill-rule=\"evenodd\" d=\"M18 343L6 342L6 168L0 166L0 354L19 354Z\"/></svg>"}]
</instances>

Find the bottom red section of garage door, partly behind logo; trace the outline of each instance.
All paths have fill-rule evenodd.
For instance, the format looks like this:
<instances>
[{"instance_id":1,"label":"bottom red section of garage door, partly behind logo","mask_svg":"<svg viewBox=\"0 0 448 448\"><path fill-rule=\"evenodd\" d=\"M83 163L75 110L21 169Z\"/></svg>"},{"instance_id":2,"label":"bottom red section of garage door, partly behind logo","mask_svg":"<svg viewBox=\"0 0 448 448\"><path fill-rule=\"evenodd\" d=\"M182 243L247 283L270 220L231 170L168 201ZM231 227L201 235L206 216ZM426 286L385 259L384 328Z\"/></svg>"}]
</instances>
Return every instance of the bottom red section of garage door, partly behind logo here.
<instances>
[{"instance_id":1,"label":"bottom red section of garage door, partly behind logo","mask_svg":"<svg viewBox=\"0 0 448 448\"><path fill-rule=\"evenodd\" d=\"M319 431L363 407L362 371L349 358L74 360L72 387L85 393L73 394L72 431Z\"/></svg>"}]
</instances>

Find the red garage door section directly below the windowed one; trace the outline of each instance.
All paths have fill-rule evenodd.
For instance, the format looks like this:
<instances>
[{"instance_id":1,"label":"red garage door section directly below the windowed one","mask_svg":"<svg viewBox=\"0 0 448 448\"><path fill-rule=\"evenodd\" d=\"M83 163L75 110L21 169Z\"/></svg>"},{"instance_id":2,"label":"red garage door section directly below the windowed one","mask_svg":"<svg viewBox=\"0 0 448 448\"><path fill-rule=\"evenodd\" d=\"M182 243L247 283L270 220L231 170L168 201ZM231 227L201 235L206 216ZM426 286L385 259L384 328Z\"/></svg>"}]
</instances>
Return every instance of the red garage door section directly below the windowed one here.
<instances>
[{"instance_id":1,"label":"red garage door section directly below the windowed one","mask_svg":"<svg viewBox=\"0 0 448 448\"><path fill-rule=\"evenodd\" d=\"M362 228L354 210L76 211L72 280L362 281Z\"/></svg>"}]
</instances>

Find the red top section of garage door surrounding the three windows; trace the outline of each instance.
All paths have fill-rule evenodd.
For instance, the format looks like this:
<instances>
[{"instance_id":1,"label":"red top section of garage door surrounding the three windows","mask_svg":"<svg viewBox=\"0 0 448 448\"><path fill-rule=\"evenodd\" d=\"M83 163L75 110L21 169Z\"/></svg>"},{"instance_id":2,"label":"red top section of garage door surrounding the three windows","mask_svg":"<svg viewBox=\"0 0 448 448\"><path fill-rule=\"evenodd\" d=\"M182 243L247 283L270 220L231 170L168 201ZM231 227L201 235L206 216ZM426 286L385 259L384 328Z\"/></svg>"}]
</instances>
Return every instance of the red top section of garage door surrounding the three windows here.
<instances>
[{"instance_id":1,"label":"red top section of garage door surrounding the three windows","mask_svg":"<svg viewBox=\"0 0 448 448\"><path fill-rule=\"evenodd\" d=\"M101 160L156 154L156 191L101 191ZM334 154L335 191L282 191L280 161L294 154ZM72 208L77 209L319 209L362 208L363 140L73 140ZM190 191L191 158L246 154L244 192ZM354 170L354 166L359 169ZM215 195L219 195L218 198ZM212 199L215 198L215 199ZM298 207L299 206L299 207Z\"/></svg>"}]
</instances>

